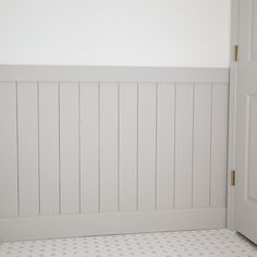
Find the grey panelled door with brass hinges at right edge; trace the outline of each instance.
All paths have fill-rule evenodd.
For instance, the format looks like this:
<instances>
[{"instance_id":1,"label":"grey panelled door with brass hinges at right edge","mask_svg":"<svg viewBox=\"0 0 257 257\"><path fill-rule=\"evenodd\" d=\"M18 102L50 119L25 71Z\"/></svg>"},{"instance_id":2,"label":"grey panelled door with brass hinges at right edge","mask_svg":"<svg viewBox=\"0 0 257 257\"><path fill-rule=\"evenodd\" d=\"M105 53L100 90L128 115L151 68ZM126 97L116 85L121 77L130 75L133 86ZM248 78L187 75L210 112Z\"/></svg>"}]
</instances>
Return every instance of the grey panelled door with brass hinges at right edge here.
<instances>
[{"instance_id":1,"label":"grey panelled door with brass hinges at right edge","mask_svg":"<svg viewBox=\"0 0 257 257\"><path fill-rule=\"evenodd\" d=\"M240 0L235 229L257 243L257 0Z\"/></svg>"}]
</instances>

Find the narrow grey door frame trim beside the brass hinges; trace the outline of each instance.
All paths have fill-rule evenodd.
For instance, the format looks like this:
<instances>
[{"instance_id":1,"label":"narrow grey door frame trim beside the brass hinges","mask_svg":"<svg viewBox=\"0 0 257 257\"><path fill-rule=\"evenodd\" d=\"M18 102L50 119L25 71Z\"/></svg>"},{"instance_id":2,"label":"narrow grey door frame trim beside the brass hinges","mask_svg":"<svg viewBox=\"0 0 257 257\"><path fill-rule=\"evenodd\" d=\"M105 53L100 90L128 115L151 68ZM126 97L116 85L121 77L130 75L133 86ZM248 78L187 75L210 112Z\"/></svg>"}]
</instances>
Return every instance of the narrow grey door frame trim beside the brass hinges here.
<instances>
[{"instance_id":1,"label":"narrow grey door frame trim beside the brass hinges","mask_svg":"<svg viewBox=\"0 0 257 257\"><path fill-rule=\"evenodd\" d=\"M236 126L236 87L237 62L234 60L234 46L238 45L240 0L231 0L231 35L230 35L230 93L229 93L229 142L228 142L228 198L227 228L234 230L234 195L231 185L231 172L235 170L235 126Z\"/></svg>"}]
</instances>

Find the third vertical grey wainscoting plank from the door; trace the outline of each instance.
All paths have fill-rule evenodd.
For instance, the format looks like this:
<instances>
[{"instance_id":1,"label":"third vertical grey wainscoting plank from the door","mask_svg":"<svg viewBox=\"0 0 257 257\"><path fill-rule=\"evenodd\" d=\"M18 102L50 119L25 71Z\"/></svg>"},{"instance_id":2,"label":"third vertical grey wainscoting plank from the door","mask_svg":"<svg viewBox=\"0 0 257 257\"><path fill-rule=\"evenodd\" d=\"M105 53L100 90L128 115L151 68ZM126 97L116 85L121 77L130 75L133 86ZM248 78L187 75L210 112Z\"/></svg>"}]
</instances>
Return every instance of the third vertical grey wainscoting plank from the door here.
<instances>
[{"instance_id":1,"label":"third vertical grey wainscoting plank from the door","mask_svg":"<svg viewBox=\"0 0 257 257\"><path fill-rule=\"evenodd\" d=\"M194 86L176 85L175 192L176 209L192 208Z\"/></svg>"}]
</instances>

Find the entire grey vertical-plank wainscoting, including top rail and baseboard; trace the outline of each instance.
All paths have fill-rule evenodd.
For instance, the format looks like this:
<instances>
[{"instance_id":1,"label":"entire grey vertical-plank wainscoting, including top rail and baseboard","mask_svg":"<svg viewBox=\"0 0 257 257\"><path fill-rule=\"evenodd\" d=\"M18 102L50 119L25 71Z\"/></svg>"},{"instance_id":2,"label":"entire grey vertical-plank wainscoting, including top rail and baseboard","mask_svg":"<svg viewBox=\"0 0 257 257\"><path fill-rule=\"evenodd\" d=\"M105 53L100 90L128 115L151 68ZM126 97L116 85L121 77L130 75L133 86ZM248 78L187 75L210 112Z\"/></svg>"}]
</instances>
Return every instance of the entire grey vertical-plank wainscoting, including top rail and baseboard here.
<instances>
[{"instance_id":1,"label":"entire grey vertical-plank wainscoting, including top rail and baseboard","mask_svg":"<svg viewBox=\"0 0 257 257\"><path fill-rule=\"evenodd\" d=\"M224 227L228 71L10 69L0 240Z\"/></svg>"}]
</instances>

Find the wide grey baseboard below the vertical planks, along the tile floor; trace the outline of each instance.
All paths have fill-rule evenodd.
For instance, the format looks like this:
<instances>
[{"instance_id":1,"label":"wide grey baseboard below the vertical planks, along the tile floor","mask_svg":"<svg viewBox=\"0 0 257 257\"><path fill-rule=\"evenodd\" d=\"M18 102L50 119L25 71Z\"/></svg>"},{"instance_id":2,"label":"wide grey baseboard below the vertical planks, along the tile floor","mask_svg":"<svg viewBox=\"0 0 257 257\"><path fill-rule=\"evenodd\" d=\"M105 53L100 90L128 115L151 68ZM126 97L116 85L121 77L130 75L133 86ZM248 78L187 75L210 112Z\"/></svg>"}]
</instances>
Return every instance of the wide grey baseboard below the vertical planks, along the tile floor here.
<instances>
[{"instance_id":1,"label":"wide grey baseboard below the vertical planks, along the tile floor","mask_svg":"<svg viewBox=\"0 0 257 257\"><path fill-rule=\"evenodd\" d=\"M0 220L0 242L225 228L225 208L154 210Z\"/></svg>"}]
</instances>

